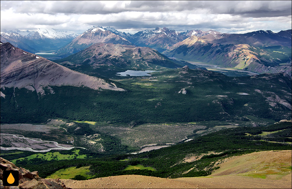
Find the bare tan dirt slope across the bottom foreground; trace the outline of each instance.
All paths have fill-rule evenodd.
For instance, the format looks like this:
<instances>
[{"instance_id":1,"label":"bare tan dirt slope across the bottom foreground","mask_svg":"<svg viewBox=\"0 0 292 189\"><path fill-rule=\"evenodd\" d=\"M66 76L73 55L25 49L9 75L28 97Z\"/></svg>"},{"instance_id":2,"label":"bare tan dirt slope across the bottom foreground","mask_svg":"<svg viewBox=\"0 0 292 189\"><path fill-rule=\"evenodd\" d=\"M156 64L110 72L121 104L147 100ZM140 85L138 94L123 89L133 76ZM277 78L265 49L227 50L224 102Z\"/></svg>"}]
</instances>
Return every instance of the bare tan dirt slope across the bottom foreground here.
<instances>
[{"instance_id":1,"label":"bare tan dirt slope across the bottom foreground","mask_svg":"<svg viewBox=\"0 0 292 189\"><path fill-rule=\"evenodd\" d=\"M62 179L70 188L291 188L291 150L262 151L223 160L210 176L165 179L121 175L86 181ZM265 178L265 179L264 179Z\"/></svg>"}]
</instances>

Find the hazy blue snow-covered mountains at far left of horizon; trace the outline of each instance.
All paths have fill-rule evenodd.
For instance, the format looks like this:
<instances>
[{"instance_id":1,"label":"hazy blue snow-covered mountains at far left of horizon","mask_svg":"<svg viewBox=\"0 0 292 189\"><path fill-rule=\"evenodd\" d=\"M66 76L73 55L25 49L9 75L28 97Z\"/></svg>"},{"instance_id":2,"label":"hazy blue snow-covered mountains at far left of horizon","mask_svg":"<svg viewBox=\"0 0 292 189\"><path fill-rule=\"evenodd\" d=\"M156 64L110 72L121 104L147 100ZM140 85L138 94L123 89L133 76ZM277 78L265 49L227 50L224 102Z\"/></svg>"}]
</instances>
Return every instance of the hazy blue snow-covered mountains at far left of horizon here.
<instances>
[{"instance_id":1,"label":"hazy blue snow-covered mountains at far left of horizon","mask_svg":"<svg viewBox=\"0 0 292 189\"><path fill-rule=\"evenodd\" d=\"M1 32L1 42L9 42L15 47L36 53L39 51L56 50L77 37L75 33L57 31L55 29L36 29L34 31Z\"/></svg>"}]
</instances>

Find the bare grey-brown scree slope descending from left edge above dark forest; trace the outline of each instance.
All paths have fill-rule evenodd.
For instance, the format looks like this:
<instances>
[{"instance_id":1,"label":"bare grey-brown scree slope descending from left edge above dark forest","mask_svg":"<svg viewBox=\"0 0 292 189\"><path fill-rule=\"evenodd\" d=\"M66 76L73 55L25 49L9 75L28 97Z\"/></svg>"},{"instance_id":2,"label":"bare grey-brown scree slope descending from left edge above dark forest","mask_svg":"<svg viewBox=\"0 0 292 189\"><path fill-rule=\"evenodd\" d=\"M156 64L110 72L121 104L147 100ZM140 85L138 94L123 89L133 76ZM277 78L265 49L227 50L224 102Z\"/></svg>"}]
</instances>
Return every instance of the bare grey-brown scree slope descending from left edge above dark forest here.
<instances>
[{"instance_id":1,"label":"bare grey-brown scree slope descending from left edge above dark forest","mask_svg":"<svg viewBox=\"0 0 292 189\"><path fill-rule=\"evenodd\" d=\"M63 85L123 90L100 78L75 72L43 57L25 52L10 43L1 43L1 88L27 88L43 93L46 86Z\"/></svg>"}]
</instances>

